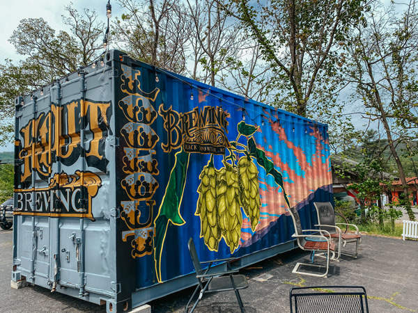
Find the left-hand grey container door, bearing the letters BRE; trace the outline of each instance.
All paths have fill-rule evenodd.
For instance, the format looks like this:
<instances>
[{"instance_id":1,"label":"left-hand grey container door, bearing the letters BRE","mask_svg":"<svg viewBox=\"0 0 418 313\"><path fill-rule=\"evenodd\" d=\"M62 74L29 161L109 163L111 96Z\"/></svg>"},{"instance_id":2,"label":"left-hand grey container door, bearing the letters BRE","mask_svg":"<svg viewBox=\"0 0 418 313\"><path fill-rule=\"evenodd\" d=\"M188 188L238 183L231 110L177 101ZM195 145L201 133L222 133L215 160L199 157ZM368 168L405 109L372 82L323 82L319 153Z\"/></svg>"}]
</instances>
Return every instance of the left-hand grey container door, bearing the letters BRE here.
<instances>
[{"instance_id":1,"label":"left-hand grey container door, bearing the letters BRE","mask_svg":"<svg viewBox=\"0 0 418 313\"><path fill-rule=\"evenodd\" d=\"M15 260L26 280L51 282L49 188L51 97L17 99L15 145ZM23 275L23 274L22 274Z\"/></svg>"}]
</instances>

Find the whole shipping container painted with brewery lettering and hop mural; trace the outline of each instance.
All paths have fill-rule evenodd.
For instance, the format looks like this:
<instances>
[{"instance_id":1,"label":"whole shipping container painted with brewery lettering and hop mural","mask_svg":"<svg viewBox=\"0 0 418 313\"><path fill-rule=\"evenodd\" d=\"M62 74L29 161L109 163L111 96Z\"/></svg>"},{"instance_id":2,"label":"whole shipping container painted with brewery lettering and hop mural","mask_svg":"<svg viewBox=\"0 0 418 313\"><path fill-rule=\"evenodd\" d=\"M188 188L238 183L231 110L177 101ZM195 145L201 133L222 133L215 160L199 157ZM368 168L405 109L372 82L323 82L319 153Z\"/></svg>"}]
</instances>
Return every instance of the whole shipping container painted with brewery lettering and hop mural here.
<instances>
[{"instance_id":1,"label":"whole shipping container painted with brewery lettering and hop mural","mask_svg":"<svg viewBox=\"0 0 418 313\"><path fill-rule=\"evenodd\" d=\"M295 248L332 200L327 126L111 50L15 100L12 280L130 310ZM224 266L224 264L219 264Z\"/></svg>"}]
</instances>

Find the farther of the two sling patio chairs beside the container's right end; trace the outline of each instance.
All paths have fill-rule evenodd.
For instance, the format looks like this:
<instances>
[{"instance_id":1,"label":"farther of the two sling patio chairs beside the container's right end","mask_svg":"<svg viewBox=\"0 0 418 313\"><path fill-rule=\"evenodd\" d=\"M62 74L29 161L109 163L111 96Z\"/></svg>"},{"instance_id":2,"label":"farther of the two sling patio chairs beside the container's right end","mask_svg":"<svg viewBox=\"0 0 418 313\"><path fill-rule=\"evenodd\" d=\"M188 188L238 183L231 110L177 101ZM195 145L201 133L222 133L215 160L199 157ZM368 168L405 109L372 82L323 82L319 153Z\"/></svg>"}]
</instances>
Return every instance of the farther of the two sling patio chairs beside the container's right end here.
<instances>
[{"instance_id":1,"label":"farther of the two sling patio chairs beside the container's right end","mask_svg":"<svg viewBox=\"0 0 418 313\"><path fill-rule=\"evenodd\" d=\"M338 253L335 260L338 260L341 254L348 255L356 259L359 251L359 244L362 242L362 236L359 233L359 227L357 227L357 225L354 224L335 223L335 212L331 202L314 202L314 205L316 207L316 214L318 214L318 225L315 226L320 227L320 230L326 230L327 232L330 232L331 238L338 244ZM355 227L356 233L343 234L339 225L353 226ZM355 243L354 252L341 252L341 249L346 247L347 243Z\"/></svg>"}]
</instances>

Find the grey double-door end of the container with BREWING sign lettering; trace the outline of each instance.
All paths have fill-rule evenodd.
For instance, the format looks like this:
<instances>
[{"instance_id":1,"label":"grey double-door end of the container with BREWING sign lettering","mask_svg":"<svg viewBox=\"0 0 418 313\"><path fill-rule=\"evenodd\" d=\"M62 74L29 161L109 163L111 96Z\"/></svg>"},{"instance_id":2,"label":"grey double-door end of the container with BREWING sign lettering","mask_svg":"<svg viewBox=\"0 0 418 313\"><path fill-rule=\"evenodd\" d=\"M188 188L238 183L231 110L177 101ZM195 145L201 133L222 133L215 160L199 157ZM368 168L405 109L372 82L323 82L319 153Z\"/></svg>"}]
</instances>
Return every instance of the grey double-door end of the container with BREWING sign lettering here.
<instances>
[{"instance_id":1,"label":"grey double-door end of the container with BREWING sign lettering","mask_svg":"<svg viewBox=\"0 0 418 313\"><path fill-rule=\"evenodd\" d=\"M15 133L13 279L95 303L116 297L112 91L103 74L90 74L89 90L83 72L44 88L42 97L17 99Z\"/></svg>"}]
</instances>

